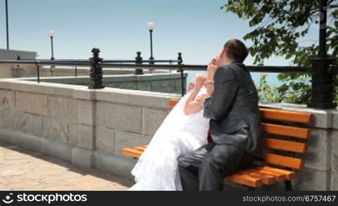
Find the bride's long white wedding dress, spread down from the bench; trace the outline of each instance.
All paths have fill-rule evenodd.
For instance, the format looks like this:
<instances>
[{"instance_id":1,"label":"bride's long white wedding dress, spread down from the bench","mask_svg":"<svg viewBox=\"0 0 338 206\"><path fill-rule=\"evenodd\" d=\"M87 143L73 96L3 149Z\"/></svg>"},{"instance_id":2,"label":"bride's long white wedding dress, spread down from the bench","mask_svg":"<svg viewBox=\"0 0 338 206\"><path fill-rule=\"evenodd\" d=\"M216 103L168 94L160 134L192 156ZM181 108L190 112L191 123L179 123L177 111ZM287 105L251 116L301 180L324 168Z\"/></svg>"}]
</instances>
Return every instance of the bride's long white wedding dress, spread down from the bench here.
<instances>
[{"instance_id":1,"label":"bride's long white wedding dress, spread down from the bench","mask_svg":"<svg viewBox=\"0 0 338 206\"><path fill-rule=\"evenodd\" d=\"M206 93L202 87L196 95ZM207 143L209 119L203 109L184 115L191 92L171 110L132 170L136 184L129 190L182 190L178 157Z\"/></svg>"}]
</instances>

